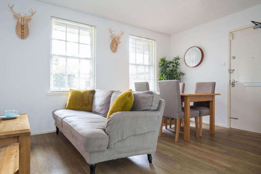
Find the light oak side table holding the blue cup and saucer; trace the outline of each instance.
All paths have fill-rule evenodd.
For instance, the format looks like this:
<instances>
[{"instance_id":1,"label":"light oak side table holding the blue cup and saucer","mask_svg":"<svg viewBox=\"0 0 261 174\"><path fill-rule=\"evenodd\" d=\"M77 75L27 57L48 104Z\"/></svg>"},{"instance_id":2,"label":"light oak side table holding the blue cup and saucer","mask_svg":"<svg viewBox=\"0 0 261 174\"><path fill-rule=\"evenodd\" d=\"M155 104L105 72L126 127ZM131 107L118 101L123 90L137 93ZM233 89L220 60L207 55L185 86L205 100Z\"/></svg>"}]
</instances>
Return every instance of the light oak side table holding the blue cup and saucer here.
<instances>
[{"instance_id":1,"label":"light oak side table holding the blue cup and saucer","mask_svg":"<svg viewBox=\"0 0 261 174\"><path fill-rule=\"evenodd\" d=\"M27 114L20 115L16 119L0 119L0 146L19 143L18 173L29 174L31 129Z\"/></svg>"}]
</instances>

